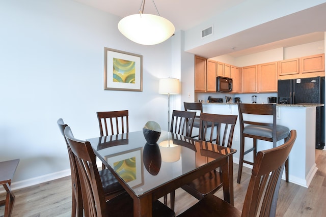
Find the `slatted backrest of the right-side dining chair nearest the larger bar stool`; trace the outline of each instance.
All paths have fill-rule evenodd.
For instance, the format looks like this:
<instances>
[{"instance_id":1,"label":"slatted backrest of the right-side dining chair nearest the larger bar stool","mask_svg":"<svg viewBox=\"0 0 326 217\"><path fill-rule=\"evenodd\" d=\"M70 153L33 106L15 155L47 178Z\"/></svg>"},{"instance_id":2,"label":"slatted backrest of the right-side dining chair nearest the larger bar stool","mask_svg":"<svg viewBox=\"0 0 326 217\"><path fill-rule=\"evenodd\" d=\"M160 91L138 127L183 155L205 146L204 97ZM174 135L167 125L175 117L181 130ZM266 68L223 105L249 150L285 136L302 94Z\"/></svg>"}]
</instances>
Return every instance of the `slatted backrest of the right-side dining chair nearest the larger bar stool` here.
<instances>
[{"instance_id":1,"label":"slatted backrest of the right-side dining chair nearest the larger bar stool","mask_svg":"<svg viewBox=\"0 0 326 217\"><path fill-rule=\"evenodd\" d=\"M231 148L237 115L200 114L199 140ZM216 133L214 133L214 126Z\"/></svg>"}]
</instances>

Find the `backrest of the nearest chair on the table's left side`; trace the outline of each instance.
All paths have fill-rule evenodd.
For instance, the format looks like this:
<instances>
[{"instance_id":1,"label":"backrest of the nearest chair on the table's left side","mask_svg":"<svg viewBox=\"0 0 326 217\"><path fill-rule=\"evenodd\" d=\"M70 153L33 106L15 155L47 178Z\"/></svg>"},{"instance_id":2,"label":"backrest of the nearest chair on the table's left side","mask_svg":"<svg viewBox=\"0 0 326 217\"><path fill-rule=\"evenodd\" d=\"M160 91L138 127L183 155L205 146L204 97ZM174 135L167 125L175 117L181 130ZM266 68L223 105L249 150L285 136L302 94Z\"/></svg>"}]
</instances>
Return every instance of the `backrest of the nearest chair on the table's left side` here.
<instances>
[{"instance_id":1,"label":"backrest of the nearest chair on the table's left side","mask_svg":"<svg viewBox=\"0 0 326 217\"><path fill-rule=\"evenodd\" d=\"M102 182L96 165L96 156L90 142L75 139L70 127L66 127L64 133L74 154L83 195L85 216L106 216Z\"/></svg>"}]
</instances>

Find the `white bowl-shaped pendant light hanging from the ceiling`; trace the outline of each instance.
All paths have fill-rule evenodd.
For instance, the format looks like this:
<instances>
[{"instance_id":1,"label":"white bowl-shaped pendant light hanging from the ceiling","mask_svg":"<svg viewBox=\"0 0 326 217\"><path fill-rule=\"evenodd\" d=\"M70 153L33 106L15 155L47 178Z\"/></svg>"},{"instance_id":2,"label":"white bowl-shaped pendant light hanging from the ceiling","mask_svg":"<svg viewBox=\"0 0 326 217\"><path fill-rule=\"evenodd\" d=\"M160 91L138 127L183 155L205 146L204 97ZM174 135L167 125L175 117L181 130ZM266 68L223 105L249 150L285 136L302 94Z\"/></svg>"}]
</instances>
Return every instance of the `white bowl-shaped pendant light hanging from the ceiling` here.
<instances>
[{"instance_id":1,"label":"white bowl-shaped pendant light hanging from the ceiling","mask_svg":"<svg viewBox=\"0 0 326 217\"><path fill-rule=\"evenodd\" d=\"M142 45L159 44L174 34L174 25L159 15L154 0L152 1L158 16L144 14L145 0L142 0L138 14L124 17L118 23L119 31L135 43Z\"/></svg>"}]
</instances>

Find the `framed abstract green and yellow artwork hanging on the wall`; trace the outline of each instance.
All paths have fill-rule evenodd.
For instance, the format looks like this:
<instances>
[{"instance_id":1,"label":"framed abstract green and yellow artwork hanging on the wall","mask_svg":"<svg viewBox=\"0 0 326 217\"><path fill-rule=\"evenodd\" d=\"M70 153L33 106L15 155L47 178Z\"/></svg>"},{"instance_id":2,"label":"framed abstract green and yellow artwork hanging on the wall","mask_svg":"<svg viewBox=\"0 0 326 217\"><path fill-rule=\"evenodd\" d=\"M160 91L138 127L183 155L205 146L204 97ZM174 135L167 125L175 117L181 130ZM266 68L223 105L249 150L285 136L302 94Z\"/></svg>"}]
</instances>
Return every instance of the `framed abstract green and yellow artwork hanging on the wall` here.
<instances>
[{"instance_id":1,"label":"framed abstract green and yellow artwork hanging on the wall","mask_svg":"<svg viewBox=\"0 0 326 217\"><path fill-rule=\"evenodd\" d=\"M104 90L143 91L143 56L104 47Z\"/></svg>"}]
</instances>

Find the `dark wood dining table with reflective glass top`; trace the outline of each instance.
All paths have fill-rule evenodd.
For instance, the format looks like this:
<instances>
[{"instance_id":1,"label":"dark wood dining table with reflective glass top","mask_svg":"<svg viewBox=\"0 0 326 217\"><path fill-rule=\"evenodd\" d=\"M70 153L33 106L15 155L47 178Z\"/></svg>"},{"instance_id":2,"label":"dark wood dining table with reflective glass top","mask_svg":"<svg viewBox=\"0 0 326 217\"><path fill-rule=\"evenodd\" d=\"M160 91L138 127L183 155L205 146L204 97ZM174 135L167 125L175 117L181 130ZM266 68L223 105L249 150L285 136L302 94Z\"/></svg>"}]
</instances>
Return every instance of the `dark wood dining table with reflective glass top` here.
<instances>
[{"instance_id":1,"label":"dark wood dining table with reflective glass top","mask_svg":"<svg viewBox=\"0 0 326 217\"><path fill-rule=\"evenodd\" d=\"M133 198L133 216L152 216L152 201L218 167L224 200L233 205L235 149L166 131L156 144L147 143L142 131L87 141Z\"/></svg>"}]
</instances>

